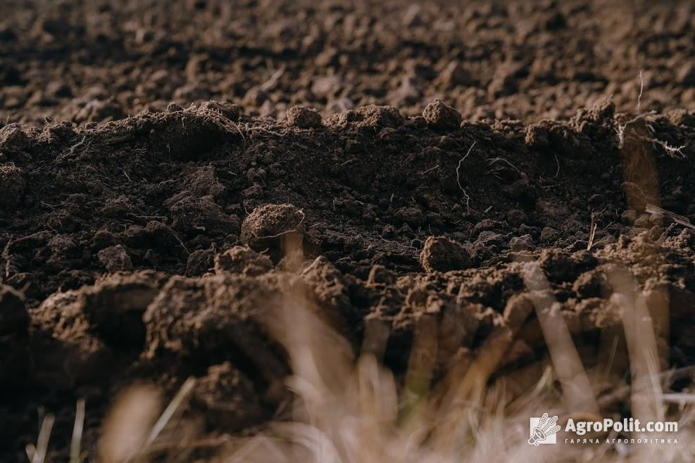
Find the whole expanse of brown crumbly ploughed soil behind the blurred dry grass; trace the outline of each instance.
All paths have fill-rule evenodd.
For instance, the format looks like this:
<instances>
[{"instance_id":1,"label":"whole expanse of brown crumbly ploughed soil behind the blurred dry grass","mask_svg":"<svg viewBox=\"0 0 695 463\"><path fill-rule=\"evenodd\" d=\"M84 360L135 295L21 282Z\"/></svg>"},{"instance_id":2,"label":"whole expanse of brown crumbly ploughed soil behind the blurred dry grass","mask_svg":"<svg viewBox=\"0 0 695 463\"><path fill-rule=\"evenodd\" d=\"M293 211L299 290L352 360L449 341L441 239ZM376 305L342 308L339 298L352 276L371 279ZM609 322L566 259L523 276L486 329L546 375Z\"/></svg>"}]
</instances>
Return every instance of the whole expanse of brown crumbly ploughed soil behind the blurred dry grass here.
<instances>
[{"instance_id":1,"label":"whole expanse of brown crumbly ploughed soil behind the blurred dry grass","mask_svg":"<svg viewBox=\"0 0 695 463\"><path fill-rule=\"evenodd\" d=\"M0 23L0 459L46 413L64 457L77 398L96 455L119 391L189 377L200 433L253 432L294 306L399 379L505 324L495 375L533 372L529 265L587 369L626 285L694 364L689 2L36 3Z\"/></svg>"}]
</instances>

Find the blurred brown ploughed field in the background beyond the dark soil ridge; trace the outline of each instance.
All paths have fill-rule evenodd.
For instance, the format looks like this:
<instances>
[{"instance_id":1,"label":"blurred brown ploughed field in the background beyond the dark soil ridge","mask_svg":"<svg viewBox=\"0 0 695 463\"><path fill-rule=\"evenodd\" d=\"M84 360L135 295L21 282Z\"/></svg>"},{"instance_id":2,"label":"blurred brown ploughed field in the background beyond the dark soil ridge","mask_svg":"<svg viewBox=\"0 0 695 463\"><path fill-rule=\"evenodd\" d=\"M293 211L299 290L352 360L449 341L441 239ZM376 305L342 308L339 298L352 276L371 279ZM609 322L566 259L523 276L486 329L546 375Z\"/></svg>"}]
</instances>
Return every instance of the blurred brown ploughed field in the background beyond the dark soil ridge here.
<instances>
[{"instance_id":1,"label":"blurred brown ploughed field in the background beyond the dark soil ridge","mask_svg":"<svg viewBox=\"0 0 695 463\"><path fill-rule=\"evenodd\" d=\"M689 1L14 1L0 22L0 120L99 122L169 101L284 118L440 98L467 119L695 105Z\"/></svg>"}]
</instances>

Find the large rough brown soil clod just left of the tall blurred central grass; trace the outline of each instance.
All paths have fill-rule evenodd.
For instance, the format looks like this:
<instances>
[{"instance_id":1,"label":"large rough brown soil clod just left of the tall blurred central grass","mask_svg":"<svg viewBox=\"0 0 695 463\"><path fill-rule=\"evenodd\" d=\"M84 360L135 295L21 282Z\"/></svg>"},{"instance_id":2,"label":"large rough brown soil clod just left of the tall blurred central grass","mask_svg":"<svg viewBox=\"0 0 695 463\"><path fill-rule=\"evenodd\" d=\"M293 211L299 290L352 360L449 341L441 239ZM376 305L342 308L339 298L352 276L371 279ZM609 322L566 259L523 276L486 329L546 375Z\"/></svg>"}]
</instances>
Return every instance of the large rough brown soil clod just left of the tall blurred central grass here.
<instances>
[{"instance_id":1,"label":"large rough brown soil clod just left of the tall blurred central grass","mask_svg":"<svg viewBox=\"0 0 695 463\"><path fill-rule=\"evenodd\" d=\"M231 357L244 364L256 387L275 390L289 371L284 352L268 336L284 292L276 277L223 274L173 277L147 307L146 357L180 365L213 365Z\"/></svg>"}]
</instances>

